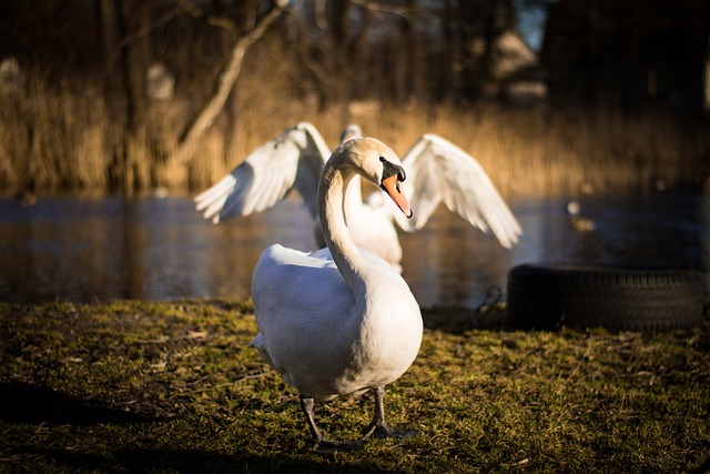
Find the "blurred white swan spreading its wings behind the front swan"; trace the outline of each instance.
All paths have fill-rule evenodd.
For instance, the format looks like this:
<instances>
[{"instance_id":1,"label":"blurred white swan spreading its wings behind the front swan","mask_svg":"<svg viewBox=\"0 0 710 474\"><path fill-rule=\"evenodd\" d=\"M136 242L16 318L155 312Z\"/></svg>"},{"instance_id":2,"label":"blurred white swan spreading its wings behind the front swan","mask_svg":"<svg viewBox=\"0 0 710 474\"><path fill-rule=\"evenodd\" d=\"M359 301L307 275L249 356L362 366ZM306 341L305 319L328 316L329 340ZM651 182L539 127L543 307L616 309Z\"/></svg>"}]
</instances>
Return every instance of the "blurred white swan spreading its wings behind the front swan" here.
<instances>
[{"instance_id":1,"label":"blurred white swan spreading its wings behind the front swan","mask_svg":"<svg viewBox=\"0 0 710 474\"><path fill-rule=\"evenodd\" d=\"M349 125L341 140L361 137ZM307 122L286 130L264 143L215 185L195 198L205 219L247 215L271 208L296 189L314 219L315 183L329 150L317 129ZM394 222L407 232L422 229L438 204L446 206L484 232L490 230L509 249L523 231L480 164L442 137L426 133L403 159L410 179L405 192L417 210L407 221L379 193L363 202L359 179L347 189L345 215L356 244L387 260L400 270L402 246ZM324 245L316 226L316 241Z\"/></svg>"}]
</instances>

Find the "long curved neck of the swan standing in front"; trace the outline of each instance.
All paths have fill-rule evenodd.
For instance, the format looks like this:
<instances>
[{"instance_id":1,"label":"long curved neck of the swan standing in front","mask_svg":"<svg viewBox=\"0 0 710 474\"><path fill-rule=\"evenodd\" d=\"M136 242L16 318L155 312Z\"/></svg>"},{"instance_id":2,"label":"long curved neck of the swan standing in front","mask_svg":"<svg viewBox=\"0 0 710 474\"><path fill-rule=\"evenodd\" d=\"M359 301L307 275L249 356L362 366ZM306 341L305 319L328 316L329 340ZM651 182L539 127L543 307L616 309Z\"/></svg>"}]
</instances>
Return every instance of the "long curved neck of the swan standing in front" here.
<instances>
[{"instance_id":1,"label":"long curved neck of the swan standing in front","mask_svg":"<svg viewBox=\"0 0 710 474\"><path fill-rule=\"evenodd\" d=\"M338 163L333 161L325 165L318 188L321 225L335 264L347 285L355 291L361 275L368 265L347 230L343 212L344 193L355 171L347 165L338 167Z\"/></svg>"}]
</instances>

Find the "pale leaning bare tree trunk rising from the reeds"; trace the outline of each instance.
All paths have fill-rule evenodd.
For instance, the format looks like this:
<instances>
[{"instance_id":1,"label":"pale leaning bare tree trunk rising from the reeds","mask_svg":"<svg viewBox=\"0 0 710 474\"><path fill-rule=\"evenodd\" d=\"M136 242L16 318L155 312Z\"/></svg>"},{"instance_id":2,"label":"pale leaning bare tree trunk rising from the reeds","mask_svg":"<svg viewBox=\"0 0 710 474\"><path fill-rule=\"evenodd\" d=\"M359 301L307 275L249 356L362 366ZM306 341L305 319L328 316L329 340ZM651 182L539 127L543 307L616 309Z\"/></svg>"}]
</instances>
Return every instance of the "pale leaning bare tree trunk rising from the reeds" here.
<instances>
[{"instance_id":1,"label":"pale leaning bare tree trunk rising from the reeds","mask_svg":"<svg viewBox=\"0 0 710 474\"><path fill-rule=\"evenodd\" d=\"M178 147L171 153L171 160L180 160L184 163L192 159L204 132L212 125L212 123L214 123L214 120L224 108L224 103L232 92L234 83L242 70L242 62L248 47L264 34L266 29L268 29L274 20L276 20L276 18L282 13L286 3L287 1L280 0L277 6L266 13L266 16L262 18L252 31L236 41L232 50L232 56L226 64L224 64L224 68L217 77L212 97L207 100L207 103L205 103L197 117L184 132L183 138L178 143Z\"/></svg>"}]
</instances>

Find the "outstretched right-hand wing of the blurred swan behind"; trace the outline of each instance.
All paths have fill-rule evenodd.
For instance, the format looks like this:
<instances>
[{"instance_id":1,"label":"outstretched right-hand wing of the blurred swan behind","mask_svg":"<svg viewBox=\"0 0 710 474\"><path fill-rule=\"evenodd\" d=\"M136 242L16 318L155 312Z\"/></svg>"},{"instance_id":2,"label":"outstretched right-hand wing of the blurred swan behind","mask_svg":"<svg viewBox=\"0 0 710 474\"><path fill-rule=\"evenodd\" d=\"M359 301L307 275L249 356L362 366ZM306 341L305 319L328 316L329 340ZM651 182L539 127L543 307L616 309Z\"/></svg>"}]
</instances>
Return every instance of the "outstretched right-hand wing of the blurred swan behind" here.
<instances>
[{"instance_id":1,"label":"outstretched right-hand wing of the blurred swan behind","mask_svg":"<svg viewBox=\"0 0 710 474\"><path fill-rule=\"evenodd\" d=\"M414 216L409 220L394 213L397 224L413 232L422 229L444 201L480 230L489 229L503 246L509 249L523 234L510 212L480 164L449 141L426 133L403 160L407 179L403 186Z\"/></svg>"}]
</instances>

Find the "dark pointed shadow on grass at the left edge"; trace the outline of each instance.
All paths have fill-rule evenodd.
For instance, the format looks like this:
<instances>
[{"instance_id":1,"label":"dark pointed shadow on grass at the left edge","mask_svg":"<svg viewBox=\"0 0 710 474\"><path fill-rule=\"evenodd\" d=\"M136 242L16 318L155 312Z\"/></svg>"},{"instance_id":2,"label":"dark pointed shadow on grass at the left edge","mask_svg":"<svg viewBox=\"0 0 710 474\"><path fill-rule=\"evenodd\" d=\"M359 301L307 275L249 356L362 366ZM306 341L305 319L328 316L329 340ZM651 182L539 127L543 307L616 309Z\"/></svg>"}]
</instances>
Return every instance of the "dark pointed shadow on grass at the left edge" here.
<instances>
[{"instance_id":1,"label":"dark pointed shadow on grass at the left edge","mask_svg":"<svg viewBox=\"0 0 710 474\"><path fill-rule=\"evenodd\" d=\"M104 402L75 399L64 393L24 382L0 383L0 421L9 423L69 424L141 423L154 421L108 406Z\"/></svg>"}]
</instances>

